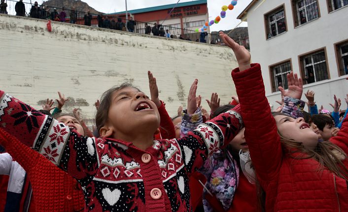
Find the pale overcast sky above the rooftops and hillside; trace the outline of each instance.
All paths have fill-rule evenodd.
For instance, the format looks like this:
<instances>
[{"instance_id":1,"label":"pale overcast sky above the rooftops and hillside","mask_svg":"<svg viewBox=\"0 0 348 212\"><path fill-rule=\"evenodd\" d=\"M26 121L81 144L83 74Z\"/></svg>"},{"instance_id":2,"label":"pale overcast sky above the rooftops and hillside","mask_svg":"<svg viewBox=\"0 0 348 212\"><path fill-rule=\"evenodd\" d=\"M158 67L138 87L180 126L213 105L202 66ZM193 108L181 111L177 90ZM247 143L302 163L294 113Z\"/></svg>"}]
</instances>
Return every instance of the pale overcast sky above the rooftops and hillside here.
<instances>
[{"instance_id":1,"label":"pale overcast sky above the rooftops and hillside","mask_svg":"<svg viewBox=\"0 0 348 212\"><path fill-rule=\"evenodd\" d=\"M39 4L42 3L43 0L37 0ZM113 12L121 12L126 10L125 0L82 0L88 3L94 9L103 12L103 13L113 13ZM187 2L192 0L180 0L179 2ZM9 3L8 1L7 3ZM32 2L35 0L23 0L23 2ZM152 6L166 5L176 3L177 0L127 0L127 8L128 10L140 9ZM211 31L218 30L231 30L235 28L241 20L237 19L237 16L244 10L244 8L251 2L251 0L238 0L235 8L231 10L227 10L226 18L221 19L219 24L214 24L211 26ZM209 20L214 19L216 16L220 15L222 5L230 4L230 0L208 0L208 9L209 9ZM14 7L14 6L13 6ZM10 8L8 8L9 10ZM9 11L13 14L12 9ZM27 11L29 12L29 11ZM164 23L166 24L166 23ZM240 26L246 27L247 24L244 22Z\"/></svg>"}]
</instances>

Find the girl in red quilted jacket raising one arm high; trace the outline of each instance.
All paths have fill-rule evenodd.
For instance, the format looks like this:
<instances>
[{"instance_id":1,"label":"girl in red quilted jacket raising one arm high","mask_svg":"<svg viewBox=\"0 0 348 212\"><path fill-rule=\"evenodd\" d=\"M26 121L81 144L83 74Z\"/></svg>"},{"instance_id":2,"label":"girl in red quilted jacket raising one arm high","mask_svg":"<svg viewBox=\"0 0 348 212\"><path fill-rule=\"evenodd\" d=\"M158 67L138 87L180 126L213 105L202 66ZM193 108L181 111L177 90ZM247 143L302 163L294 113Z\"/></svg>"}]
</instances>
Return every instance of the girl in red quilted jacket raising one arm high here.
<instances>
[{"instance_id":1,"label":"girl in red quilted jacket raising one arm high","mask_svg":"<svg viewBox=\"0 0 348 212\"><path fill-rule=\"evenodd\" d=\"M234 52L244 52L239 54L244 59L238 61L250 60L249 52L231 38L223 35L222 39ZM338 135L330 139L332 143L318 142L303 118L279 113L272 116L260 65L244 65L246 68L240 65L233 70L232 77L242 108L245 140L266 194L265 199L260 198L265 211L347 211L347 118ZM291 80L293 86L284 96L299 99L302 80L296 74Z\"/></svg>"}]
</instances>

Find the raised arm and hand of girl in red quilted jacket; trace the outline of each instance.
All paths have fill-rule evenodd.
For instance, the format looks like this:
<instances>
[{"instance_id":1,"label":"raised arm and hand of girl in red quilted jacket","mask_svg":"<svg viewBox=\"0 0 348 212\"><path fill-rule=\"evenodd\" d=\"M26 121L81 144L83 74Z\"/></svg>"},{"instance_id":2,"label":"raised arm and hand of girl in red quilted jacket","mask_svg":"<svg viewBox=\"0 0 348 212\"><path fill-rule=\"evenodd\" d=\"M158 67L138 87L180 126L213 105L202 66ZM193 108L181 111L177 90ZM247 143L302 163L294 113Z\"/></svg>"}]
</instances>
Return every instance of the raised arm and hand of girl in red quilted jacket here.
<instances>
[{"instance_id":1,"label":"raised arm and hand of girl in red quilted jacket","mask_svg":"<svg viewBox=\"0 0 348 212\"><path fill-rule=\"evenodd\" d=\"M232 38L220 32L221 39L235 53L239 68L232 78L242 109L245 140L258 178L269 182L279 173L282 150L275 119L265 96L260 64L250 65L250 53Z\"/></svg>"}]
</instances>

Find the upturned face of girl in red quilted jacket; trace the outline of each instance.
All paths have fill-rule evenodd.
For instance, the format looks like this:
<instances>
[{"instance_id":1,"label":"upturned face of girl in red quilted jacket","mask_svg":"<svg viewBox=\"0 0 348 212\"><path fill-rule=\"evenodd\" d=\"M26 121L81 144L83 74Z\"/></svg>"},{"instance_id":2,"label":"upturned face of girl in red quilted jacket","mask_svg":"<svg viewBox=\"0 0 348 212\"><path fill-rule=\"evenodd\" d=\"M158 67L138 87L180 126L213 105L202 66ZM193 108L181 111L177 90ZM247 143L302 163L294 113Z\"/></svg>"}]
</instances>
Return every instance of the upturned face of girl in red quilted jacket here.
<instances>
[{"instance_id":1,"label":"upturned face of girl in red quilted jacket","mask_svg":"<svg viewBox=\"0 0 348 212\"><path fill-rule=\"evenodd\" d=\"M287 116L275 117L279 133L295 142L300 142L306 148L314 148L318 143L318 136L303 118L293 119Z\"/></svg>"}]
</instances>

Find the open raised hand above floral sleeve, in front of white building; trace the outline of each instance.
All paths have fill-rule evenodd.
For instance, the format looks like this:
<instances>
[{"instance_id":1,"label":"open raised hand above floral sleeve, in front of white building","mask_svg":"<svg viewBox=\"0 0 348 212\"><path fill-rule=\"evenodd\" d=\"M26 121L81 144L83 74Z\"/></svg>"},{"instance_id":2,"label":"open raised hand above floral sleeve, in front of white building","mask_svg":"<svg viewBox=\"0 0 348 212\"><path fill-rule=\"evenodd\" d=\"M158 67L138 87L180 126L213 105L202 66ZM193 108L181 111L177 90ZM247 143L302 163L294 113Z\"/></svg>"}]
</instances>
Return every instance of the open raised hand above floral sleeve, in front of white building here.
<instances>
[{"instance_id":1,"label":"open raised hand above floral sleeve, in front of white building","mask_svg":"<svg viewBox=\"0 0 348 212\"><path fill-rule=\"evenodd\" d=\"M286 77L289 89L285 91L283 87L279 86L278 89L281 92L281 94L295 99L301 99L303 92L302 79L298 78L297 74L294 74L292 71L289 74L287 74Z\"/></svg>"}]
</instances>

